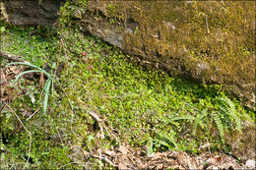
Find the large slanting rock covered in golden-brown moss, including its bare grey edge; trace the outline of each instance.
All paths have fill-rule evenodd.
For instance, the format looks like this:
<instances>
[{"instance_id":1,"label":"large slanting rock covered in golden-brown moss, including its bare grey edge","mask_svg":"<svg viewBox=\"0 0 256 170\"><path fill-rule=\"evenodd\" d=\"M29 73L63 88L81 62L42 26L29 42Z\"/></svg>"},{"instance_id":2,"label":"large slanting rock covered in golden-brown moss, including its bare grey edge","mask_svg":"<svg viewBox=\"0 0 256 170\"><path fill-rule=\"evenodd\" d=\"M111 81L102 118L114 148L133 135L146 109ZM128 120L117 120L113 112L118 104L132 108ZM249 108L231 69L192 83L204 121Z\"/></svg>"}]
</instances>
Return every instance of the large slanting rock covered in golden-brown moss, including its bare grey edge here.
<instances>
[{"instance_id":1,"label":"large slanting rock covered in golden-brown moss, including its bare grey edge","mask_svg":"<svg viewBox=\"0 0 256 170\"><path fill-rule=\"evenodd\" d=\"M134 61L228 86L255 109L254 6L252 1L89 1L82 19L71 23L136 56Z\"/></svg>"}]
</instances>

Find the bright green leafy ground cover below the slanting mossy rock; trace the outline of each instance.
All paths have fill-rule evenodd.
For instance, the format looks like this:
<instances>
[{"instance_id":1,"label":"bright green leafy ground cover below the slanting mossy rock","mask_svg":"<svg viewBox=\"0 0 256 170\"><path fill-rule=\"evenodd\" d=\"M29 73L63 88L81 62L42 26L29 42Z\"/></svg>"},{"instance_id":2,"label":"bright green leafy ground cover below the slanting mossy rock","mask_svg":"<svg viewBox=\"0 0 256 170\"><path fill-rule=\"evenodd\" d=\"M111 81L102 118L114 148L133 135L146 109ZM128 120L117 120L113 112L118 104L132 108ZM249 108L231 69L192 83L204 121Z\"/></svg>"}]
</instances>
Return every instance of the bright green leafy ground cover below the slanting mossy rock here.
<instances>
[{"instance_id":1,"label":"bright green leafy ground cover below the slanting mossy rock","mask_svg":"<svg viewBox=\"0 0 256 170\"><path fill-rule=\"evenodd\" d=\"M93 153L120 144L145 147L146 155L165 150L197 154L208 143L212 152L228 152L225 133L240 131L241 121L254 119L222 86L197 85L143 68L76 28L3 27L2 51L22 56L54 77L47 91L46 76L30 73L15 83L32 68L18 68L8 80L10 91L16 92L1 100L3 168L82 168L74 162L88 154L78 150ZM7 63L1 62L2 73ZM49 97L46 113L42 93ZM32 135L30 157L30 138L16 115ZM87 162L87 167L110 167L96 157Z\"/></svg>"}]
</instances>

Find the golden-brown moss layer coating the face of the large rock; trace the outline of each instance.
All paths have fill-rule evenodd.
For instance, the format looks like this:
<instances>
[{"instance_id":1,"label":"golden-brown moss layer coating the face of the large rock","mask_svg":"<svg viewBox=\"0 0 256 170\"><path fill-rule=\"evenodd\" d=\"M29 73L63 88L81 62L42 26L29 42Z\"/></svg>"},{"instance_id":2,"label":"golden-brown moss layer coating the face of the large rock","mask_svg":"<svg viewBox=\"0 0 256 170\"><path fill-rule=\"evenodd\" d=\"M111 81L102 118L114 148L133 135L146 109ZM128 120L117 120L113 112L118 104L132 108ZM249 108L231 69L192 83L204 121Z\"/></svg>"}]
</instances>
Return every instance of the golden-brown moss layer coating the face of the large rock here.
<instances>
[{"instance_id":1,"label":"golden-brown moss layer coating the face of the large rock","mask_svg":"<svg viewBox=\"0 0 256 170\"><path fill-rule=\"evenodd\" d=\"M210 70L202 80L241 86L255 82L255 69L247 69L255 65L254 5L252 1L136 1L108 2L106 9L112 19L124 15L124 19L132 18L139 24L139 31L126 34L125 50L148 61L156 61L156 54L162 56L163 63L178 58L191 73L195 59L204 61Z\"/></svg>"}]
</instances>

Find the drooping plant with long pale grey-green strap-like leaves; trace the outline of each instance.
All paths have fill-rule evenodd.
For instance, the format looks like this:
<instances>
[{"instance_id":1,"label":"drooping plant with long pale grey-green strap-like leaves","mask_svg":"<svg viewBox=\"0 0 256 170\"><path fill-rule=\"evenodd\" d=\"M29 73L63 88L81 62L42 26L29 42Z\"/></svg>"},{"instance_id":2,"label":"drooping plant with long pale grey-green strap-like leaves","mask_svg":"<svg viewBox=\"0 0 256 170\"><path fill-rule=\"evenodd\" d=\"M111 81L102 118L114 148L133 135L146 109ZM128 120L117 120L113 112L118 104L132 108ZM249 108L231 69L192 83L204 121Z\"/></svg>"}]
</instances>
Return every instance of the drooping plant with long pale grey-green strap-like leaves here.
<instances>
[{"instance_id":1,"label":"drooping plant with long pale grey-green strap-like leaves","mask_svg":"<svg viewBox=\"0 0 256 170\"><path fill-rule=\"evenodd\" d=\"M48 77L45 85L43 86L42 88L42 91L41 91L41 95L42 93L44 92L44 99L43 99L43 114L46 114L46 111L47 111L47 105L48 105L48 98L49 98L49 91L50 91L50 86L52 87L52 93L53 93L53 83L54 83L54 75L46 72L45 70L37 67L37 66L34 66L32 65L31 63L25 63L25 62L14 62L14 63L10 63L8 64L7 66L9 65L26 65L26 66L29 66L29 67L32 67L32 68L35 68L36 70L30 70L30 71L25 71L21 74L19 74L16 78L16 82L25 74L29 74L29 73L42 73L44 75L46 75ZM7 67L6 66L6 67ZM41 96L40 95L40 96Z\"/></svg>"}]
</instances>

